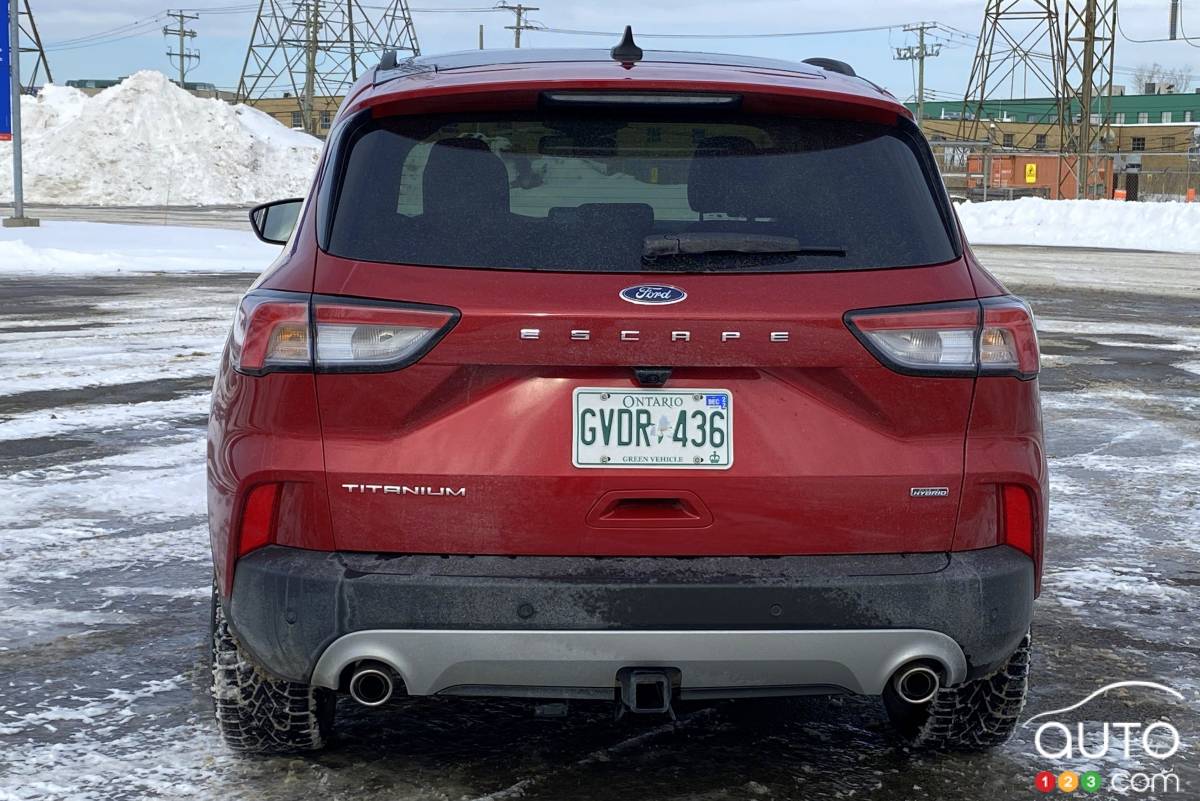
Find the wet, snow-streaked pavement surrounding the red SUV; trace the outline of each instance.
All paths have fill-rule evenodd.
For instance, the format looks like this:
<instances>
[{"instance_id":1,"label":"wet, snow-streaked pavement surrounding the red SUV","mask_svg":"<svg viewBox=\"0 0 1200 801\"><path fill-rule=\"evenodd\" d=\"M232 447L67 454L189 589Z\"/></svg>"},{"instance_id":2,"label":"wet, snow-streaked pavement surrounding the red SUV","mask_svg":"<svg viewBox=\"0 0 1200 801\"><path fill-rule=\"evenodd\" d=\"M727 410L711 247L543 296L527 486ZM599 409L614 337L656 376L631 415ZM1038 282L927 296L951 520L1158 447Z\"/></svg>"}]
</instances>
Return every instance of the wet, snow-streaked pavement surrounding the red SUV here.
<instances>
[{"instance_id":1,"label":"wet, snow-streaked pavement surrounding the red SUV","mask_svg":"<svg viewBox=\"0 0 1200 801\"><path fill-rule=\"evenodd\" d=\"M1060 270L1068 278L1127 269L1104 252L979 252L1018 279L1056 261L1079 267ZM233 757L205 697L204 422L250 279L0 276L0 799L974 801L1031 797L1037 771L1085 767L1037 757L1032 729L984 757L910 759L858 698L689 707L676 725L613 722L604 706L538 719L517 701L422 700L413 715L343 704L328 753ZM1018 289L1039 314L1054 476L1028 711L1118 680L1175 687L1187 704L1110 698L1082 719L1169 716L1184 749L1166 766L1184 791L1160 797L1198 797L1195 295ZM1126 760L1116 741L1087 766L1163 767Z\"/></svg>"}]
</instances>

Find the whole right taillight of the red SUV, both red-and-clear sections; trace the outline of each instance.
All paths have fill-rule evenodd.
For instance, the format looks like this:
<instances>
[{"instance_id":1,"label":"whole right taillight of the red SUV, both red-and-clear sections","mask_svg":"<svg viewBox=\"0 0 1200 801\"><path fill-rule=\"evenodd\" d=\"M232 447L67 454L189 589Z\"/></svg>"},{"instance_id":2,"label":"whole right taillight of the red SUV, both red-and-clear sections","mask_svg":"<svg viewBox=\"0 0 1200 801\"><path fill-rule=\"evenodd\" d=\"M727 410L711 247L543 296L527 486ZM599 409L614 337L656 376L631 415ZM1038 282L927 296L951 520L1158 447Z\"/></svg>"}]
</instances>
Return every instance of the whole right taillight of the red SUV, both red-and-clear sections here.
<instances>
[{"instance_id":1,"label":"whole right taillight of the red SUV, both red-and-clear sections","mask_svg":"<svg viewBox=\"0 0 1200 801\"><path fill-rule=\"evenodd\" d=\"M860 309L846 325L887 367L906 375L1038 372L1033 315L1016 297Z\"/></svg>"}]
</instances>

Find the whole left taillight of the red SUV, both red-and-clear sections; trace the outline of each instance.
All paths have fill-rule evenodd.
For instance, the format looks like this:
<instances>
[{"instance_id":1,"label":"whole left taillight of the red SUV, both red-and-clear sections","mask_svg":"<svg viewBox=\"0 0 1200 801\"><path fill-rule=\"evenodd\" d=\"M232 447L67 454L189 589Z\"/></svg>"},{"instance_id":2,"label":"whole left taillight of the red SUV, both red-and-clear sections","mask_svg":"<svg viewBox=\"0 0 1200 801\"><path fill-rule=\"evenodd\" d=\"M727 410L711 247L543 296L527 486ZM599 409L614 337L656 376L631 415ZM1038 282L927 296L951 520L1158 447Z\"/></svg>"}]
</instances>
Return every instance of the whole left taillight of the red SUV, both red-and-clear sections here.
<instances>
[{"instance_id":1,"label":"whole left taillight of the red SUV, both red-and-clear sections","mask_svg":"<svg viewBox=\"0 0 1200 801\"><path fill-rule=\"evenodd\" d=\"M241 373L377 372L412 365L457 309L256 290L238 307L229 355Z\"/></svg>"}]
</instances>

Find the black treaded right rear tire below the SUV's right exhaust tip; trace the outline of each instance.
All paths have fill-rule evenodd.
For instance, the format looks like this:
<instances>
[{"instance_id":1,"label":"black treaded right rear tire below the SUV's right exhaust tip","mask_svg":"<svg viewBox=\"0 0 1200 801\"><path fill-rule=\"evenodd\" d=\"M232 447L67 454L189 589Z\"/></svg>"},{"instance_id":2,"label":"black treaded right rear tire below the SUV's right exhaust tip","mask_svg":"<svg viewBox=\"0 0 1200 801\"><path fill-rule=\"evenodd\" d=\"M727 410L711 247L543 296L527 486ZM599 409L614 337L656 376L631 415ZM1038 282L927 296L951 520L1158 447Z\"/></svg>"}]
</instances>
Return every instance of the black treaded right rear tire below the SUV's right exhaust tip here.
<instances>
[{"instance_id":1,"label":"black treaded right rear tire below the SUV's right exhaust tip","mask_svg":"<svg viewBox=\"0 0 1200 801\"><path fill-rule=\"evenodd\" d=\"M926 704L908 704L888 686L883 705L892 724L923 748L983 751L1008 742L1030 686L1030 634L996 673L937 691Z\"/></svg>"}]
</instances>

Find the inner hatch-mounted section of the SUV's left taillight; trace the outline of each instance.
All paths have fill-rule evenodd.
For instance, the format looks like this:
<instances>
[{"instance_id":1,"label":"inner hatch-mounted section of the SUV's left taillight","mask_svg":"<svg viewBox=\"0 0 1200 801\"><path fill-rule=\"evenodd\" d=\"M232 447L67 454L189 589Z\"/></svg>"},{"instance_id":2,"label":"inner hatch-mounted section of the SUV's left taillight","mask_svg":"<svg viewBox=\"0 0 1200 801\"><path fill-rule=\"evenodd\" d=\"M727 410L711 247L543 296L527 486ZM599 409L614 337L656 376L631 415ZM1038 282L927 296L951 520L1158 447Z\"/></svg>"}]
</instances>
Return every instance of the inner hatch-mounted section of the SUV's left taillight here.
<instances>
[{"instance_id":1,"label":"inner hatch-mounted section of the SUV's left taillight","mask_svg":"<svg viewBox=\"0 0 1200 801\"><path fill-rule=\"evenodd\" d=\"M451 308L313 297L317 369L370 372L407 367L458 319Z\"/></svg>"}]
</instances>

